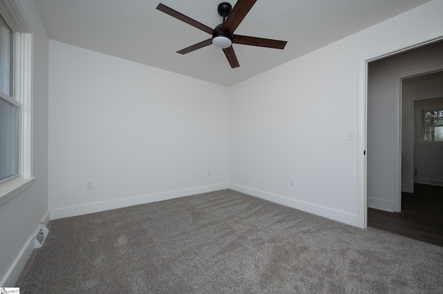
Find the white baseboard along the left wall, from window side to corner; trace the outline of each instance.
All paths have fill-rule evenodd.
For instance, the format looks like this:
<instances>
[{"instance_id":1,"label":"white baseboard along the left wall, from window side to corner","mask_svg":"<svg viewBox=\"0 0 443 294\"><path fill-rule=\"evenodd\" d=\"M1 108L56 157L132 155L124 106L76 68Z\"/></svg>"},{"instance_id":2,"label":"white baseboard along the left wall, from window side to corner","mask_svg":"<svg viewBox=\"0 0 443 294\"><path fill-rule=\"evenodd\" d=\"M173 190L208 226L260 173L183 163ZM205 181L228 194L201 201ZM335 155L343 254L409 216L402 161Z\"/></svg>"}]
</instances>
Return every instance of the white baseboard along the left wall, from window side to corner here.
<instances>
[{"instance_id":1,"label":"white baseboard along the left wall, from window side to corner","mask_svg":"<svg viewBox=\"0 0 443 294\"><path fill-rule=\"evenodd\" d=\"M51 219L61 219L64 217L87 215L89 213L99 213L100 211L105 211L105 210L123 208L139 204L146 204L151 202L159 202L173 198L223 190L227 189L228 187L229 187L228 183L215 184L210 186L201 186L201 187L188 188L183 190L172 190L163 193L155 193L150 195L141 195L136 197L124 198L124 199L116 199L107 202L97 202L97 203L85 204L80 206L56 208L50 210L50 217Z\"/></svg>"}]
</instances>

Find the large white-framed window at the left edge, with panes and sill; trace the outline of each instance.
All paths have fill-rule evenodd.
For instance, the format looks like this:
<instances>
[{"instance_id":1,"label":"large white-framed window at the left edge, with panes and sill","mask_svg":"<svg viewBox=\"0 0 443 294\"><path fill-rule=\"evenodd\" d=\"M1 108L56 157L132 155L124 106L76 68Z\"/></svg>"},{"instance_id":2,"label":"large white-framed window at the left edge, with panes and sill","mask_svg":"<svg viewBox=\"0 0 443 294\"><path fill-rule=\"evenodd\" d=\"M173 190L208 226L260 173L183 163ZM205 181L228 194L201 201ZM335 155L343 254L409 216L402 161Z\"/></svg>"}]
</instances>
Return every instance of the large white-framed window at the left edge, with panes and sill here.
<instances>
[{"instance_id":1,"label":"large white-framed window at the left edge, with panes and sill","mask_svg":"<svg viewBox=\"0 0 443 294\"><path fill-rule=\"evenodd\" d=\"M33 36L20 11L18 1L0 1L0 205L33 182Z\"/></svg>"}]
</instances>

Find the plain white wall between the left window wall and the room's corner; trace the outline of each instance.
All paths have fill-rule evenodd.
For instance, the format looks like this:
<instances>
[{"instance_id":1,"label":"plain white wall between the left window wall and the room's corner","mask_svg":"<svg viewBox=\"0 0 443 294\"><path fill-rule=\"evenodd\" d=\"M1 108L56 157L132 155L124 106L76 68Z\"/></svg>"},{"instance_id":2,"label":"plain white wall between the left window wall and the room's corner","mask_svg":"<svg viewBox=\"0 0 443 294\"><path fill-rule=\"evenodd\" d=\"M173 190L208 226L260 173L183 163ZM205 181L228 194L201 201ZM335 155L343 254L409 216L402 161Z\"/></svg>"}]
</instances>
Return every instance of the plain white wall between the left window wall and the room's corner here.
<instances>
[{"instance_id":1,"label":"plain white wall between the left window wall and the room's corner","mask_svg":"<svg viewBox=\"0 0 443 294\"><path fill-rule=\"evenodd\" d=\"M51 219L228 187L227 87L49 49Z\"/></svg>"}]
</instances>

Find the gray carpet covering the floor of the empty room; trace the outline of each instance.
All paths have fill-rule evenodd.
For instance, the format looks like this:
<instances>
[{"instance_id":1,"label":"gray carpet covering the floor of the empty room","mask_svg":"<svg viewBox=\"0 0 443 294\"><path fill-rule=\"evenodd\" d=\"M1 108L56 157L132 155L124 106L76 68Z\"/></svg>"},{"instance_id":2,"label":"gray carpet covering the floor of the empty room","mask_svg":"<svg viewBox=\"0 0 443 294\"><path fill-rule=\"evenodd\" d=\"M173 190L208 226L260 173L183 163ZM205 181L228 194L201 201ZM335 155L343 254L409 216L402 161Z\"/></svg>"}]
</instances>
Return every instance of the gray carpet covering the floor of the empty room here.
<instances>
[{"instance_id":1,"label":"gray carpet covering the floor of the empty room","mask_svg":"<svg viewBox=\"0 0 443 294\"><path fill-rule=\"evenodd\" d=\"M233 190L48 228L20 293L443 293L443 247Z\"/></svg>"}]
</instances>

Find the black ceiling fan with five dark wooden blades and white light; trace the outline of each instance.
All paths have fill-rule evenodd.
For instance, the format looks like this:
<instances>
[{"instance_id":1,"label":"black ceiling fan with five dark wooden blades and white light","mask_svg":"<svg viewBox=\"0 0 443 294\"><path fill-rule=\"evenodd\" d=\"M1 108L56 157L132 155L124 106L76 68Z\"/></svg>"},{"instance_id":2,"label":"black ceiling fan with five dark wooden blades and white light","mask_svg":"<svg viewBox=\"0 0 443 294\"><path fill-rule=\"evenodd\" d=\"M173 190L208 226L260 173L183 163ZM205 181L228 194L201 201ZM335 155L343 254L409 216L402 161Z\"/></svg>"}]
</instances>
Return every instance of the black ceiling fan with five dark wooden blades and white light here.
<instances>
[{"instance_id":1,"label":"black ceiling fan with five dark wooden blades and white light","mask_svg":"<svg viewBox=\"0 0 443 294\"><path fill-rule=\"evenodd\" d=\"M220 16L223 17L223 23L220 23L215 28L205 26L203 23L199 23L198 21L195 21L194 19L191 19L190 17L187 17L176 10L173 10L162 3L159 3L159 6L157 6L156 9L169 14L171 17L175 17L176 19L188 23L199 30L203 30L208 34L213 35L213 37L210 39L179 50L177 53L186 54L209 46L210 44L214 44L218 48L223 49L224 55L226 55L230 67L237 68L240 65L232 46L233 43L275 49L283 49L287 43L287 41L234 35L235 29L239 26L244 17L246 17L246 14L248 14L249 10L251 10L256 1L257 0L238 0L234 8L228 2L220 3L218 6L218 12Z\"/></svg>"}]
</instances>

